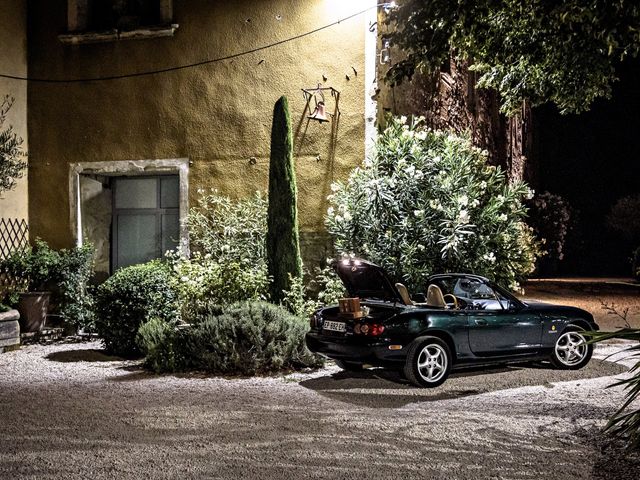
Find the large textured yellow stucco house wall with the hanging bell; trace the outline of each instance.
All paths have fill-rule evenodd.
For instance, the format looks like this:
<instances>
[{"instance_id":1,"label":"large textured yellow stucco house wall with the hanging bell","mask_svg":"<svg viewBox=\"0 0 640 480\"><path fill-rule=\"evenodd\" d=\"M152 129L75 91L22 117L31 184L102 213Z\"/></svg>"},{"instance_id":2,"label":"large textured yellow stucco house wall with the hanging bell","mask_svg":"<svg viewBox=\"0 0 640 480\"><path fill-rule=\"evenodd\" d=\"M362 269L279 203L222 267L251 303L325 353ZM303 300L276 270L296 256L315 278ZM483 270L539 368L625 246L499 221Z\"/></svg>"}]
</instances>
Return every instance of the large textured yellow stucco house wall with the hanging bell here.
<instances>
[{"instance_id":1,"label":"large textured yellow stucco house wall with the hanging bell","mask_svg":"<svg viewBox=\"0 0 640 480\"><path fill-rule=\"evenodd\" d=\"M369 5L365 0L175 1L180 27L174 37L69 46L57 38L65 31L66 0L33 1L29 73L95 77L197 62L307 32ZM272 110L281 95L289 98L295 130L300 227L322 231L331 182L345 178L364 158L365 30L361 15L211 65L105 82L31 83L32 233L56 247L73 242L68 176L69 164L76 162L187 157L191 204L200 188L234 197L266 190ZM331 123L310 122L305 132L301 88L318 83L341 92L333 140ZM332 111L330 98L327 103Z\"/></svg>"}]
</instances>

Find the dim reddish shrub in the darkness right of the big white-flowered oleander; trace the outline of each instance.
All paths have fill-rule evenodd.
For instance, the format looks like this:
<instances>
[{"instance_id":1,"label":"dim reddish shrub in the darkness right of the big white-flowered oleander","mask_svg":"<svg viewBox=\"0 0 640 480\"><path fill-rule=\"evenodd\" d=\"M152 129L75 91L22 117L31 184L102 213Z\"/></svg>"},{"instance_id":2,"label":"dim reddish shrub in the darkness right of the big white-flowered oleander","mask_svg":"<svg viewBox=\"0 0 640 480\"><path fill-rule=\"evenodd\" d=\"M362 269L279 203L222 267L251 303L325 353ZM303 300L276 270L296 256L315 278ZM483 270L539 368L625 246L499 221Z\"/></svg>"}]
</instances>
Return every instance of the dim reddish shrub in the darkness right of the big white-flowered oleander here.
<instances>
[{"instance_id":1,"label":"dim reddish shrub in the darkness right of the big white-flowered oleander","mask_svg":"<svg viewBox=\"0 0 640 480\"><path fill-rule=\"evenodd\" d=\"M549 260L564 258L564 244L569 233L572 209L560 195L544 192L533 197L529 203L527 223L536 237L541 239Z\"/></svg>"}]
</instances>

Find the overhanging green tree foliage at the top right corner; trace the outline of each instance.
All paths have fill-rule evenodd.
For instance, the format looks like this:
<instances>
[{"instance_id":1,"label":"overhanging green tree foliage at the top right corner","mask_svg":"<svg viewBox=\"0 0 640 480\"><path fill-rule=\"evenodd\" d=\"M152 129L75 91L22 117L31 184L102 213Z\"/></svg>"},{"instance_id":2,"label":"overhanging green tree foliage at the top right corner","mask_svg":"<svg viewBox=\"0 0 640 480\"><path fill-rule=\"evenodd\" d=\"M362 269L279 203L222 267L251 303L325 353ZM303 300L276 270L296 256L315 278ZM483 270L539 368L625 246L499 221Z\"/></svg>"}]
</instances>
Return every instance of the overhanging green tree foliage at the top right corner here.
<instances>
[{"instance_id":1,"label":"overhanging green tree foliage at the top right corner","mask_svg":"<svg viewBox=\"0 0 640 480\"><path fill-rule=\"evenodd\" d=\"M579 113L611 95L615 67L640 50L637 0L402 0L385 23L406 53L388 78L436 72L451 52L471 62L501 110L523 100Z\"/></svg>"}]
</instances>

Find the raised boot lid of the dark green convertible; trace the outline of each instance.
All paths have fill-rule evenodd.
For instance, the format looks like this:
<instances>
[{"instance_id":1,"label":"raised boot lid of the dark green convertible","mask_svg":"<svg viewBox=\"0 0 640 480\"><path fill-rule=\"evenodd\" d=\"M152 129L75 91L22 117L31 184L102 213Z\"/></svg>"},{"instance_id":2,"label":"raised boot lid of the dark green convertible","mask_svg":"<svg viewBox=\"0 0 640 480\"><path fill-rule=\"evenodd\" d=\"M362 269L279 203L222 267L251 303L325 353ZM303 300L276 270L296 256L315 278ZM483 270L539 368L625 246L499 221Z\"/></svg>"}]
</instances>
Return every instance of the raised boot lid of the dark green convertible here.
<instances>
[{"instance_id":1,"label":"raised boot lid of the dark green convertible","mask_svg":"<svg viewBox=\"0 0 640 480\"><path fill-rule=\"evenodd\" d=\"M332 266L350 296L404 303L398 289L378 265L365 260L343 259L334 261Z\"/></svg>"}]
</instances>

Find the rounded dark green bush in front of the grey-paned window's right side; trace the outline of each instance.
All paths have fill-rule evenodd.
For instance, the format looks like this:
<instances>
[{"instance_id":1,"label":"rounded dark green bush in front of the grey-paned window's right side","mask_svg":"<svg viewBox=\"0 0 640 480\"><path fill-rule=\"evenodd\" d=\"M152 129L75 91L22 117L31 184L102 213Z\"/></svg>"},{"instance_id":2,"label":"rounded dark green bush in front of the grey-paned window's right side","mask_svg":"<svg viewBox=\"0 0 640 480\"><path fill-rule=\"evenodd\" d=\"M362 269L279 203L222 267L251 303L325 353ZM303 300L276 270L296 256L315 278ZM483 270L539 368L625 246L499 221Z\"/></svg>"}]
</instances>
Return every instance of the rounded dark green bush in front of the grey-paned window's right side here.
<instances>
[{"instance_id":1,"label":"rounded dark green bush in front of the grey-paned window's right side","mask_svg":"<svg viewBox=\"0 0 640 480\"><path fill-rule=\"evenodd\" d=\"M107 350L115 355L139 355L136 335L152 318L175 322L178 295L171 270L159 261L118 270L96 292L96 330Z\"/></svg>"}]
</instances>

